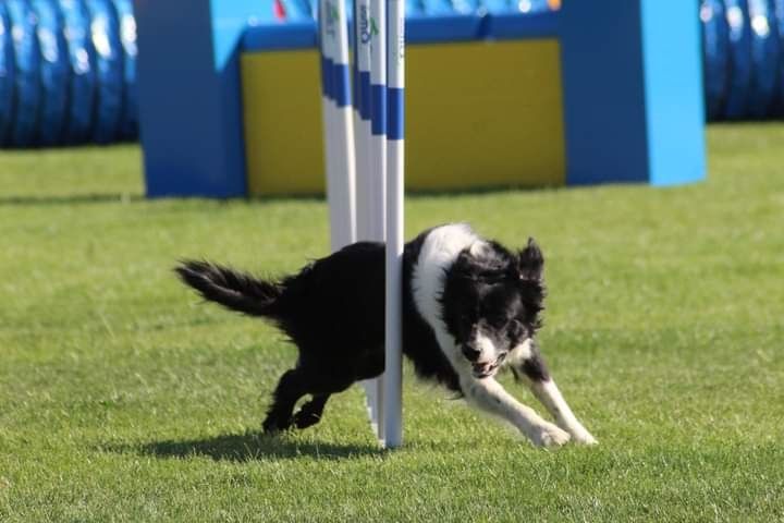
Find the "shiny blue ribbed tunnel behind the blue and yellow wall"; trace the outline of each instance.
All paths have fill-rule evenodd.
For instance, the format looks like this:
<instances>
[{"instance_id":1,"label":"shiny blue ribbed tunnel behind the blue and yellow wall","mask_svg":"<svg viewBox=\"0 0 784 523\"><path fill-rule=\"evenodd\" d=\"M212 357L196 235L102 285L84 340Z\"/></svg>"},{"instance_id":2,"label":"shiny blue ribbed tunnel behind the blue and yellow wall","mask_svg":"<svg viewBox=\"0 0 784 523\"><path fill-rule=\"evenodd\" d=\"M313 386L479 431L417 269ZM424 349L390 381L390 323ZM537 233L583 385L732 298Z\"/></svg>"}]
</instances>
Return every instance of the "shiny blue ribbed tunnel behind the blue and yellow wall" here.
<instances>
[{"instance_id":1,"label":"shiny blue ribbed tunnel behind the blue and yellow wall","mask_svg":"<svg viewBox=\"0 0 784 523\"><path fill-rule=\"evenodd\" d=\"M547 0L407 1L422 31L437 29L431 15L485 12L500 38L548 9ZM259 10L270 24L313 16L307 0L260 0ZM708 119L784 117L784 0L701 0L699 16ZM0 146L136 139L135 64L132 0L0 2Z\"/></svg>"}]
</instances>

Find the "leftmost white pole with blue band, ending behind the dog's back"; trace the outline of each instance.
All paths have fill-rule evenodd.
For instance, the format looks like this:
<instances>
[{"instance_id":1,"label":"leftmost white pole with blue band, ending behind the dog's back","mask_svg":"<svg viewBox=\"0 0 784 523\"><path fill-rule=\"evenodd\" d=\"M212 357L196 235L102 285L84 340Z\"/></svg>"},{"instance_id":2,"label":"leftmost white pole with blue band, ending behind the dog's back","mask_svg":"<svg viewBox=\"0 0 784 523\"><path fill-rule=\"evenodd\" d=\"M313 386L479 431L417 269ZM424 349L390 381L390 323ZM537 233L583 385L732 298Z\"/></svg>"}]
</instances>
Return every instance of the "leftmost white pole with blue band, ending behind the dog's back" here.
<instances>
[{"instance_id":1,"label":"leftmost white pole with blue band, ending behind the dog's back","mask_svg":"<svg viewBox=\"0 0 784 523\"><path fill-rule=\"evenodd\" d=\"M332 251L338 251L356 240L354 131L345 3L343 0L320 0L318 16L324 85L322 102L330 243Z\"/></svg>"}]
</instances>

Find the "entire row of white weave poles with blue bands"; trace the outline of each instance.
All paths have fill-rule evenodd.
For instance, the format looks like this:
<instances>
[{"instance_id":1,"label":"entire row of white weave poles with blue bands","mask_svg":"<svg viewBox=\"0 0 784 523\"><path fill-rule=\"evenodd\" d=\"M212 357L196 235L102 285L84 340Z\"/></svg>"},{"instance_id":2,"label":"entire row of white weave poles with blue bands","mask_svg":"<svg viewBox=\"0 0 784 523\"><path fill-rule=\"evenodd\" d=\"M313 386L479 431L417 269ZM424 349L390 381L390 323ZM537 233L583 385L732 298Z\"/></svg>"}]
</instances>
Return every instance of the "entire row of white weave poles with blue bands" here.
<instances>
[{"instance_id":1,"label":"entire row of white weave poles with blue bands","mask_svg":"<svg viewBox=\"0 0 784 523\"><path fill-rule=\"evenodd\" d=\"M395 448L402 443L404 1L356 0L354 10L352 119L345 4L319 1L331 246L387 240L385 370L365 391L377 438Z\"/></svg>"}]
</instances>

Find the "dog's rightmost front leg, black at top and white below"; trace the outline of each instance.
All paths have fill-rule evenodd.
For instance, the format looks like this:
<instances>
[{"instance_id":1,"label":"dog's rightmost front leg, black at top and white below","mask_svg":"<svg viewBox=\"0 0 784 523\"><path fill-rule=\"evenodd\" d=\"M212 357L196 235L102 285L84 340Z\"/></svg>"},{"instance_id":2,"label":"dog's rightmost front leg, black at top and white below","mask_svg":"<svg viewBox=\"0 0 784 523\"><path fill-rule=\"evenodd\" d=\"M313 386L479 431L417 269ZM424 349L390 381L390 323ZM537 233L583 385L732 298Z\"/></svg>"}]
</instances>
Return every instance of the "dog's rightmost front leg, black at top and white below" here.
<instances>
[{"instance_id":1,"label":"dog's rightmost front leg, black at top and white below","mask_svg":"<svg viewBox=\"0 0 784 523\"><path fill-rule=\"evenodd\" d=\"M515 377L528 385L534 396L553 416L558 426L566 430L573 441L584 445L597 443L593 436L577 421L577 416L569 409L531 340L526 340L523 345L512 351L510 360Z\"/></svg>"}]
</instances>

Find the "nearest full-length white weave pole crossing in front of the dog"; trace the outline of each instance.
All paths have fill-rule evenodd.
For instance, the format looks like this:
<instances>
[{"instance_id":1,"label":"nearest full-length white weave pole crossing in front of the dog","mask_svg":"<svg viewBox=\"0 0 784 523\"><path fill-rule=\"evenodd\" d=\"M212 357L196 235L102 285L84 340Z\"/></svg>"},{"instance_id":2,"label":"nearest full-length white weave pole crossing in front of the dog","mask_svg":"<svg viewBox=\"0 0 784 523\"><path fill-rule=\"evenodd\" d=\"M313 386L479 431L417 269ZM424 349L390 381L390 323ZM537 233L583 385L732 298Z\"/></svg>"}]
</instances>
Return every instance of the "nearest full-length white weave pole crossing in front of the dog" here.
<instances>
[{"instance_id":1,"label":"nearest full-length white weave pole crossing in front of the dog","mask_svg":"<svg viewBox=\"0 0 784 523\"><path fill-rule=\"evenodd\" d=\"M389 0L387 118L387 320L384 362L384 446L400 447L402 425L403 345L403 194L405 0Z\"/></svg>"}]
</instances>

